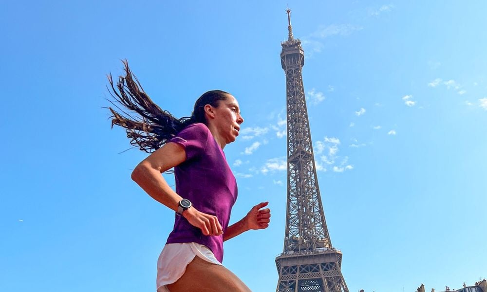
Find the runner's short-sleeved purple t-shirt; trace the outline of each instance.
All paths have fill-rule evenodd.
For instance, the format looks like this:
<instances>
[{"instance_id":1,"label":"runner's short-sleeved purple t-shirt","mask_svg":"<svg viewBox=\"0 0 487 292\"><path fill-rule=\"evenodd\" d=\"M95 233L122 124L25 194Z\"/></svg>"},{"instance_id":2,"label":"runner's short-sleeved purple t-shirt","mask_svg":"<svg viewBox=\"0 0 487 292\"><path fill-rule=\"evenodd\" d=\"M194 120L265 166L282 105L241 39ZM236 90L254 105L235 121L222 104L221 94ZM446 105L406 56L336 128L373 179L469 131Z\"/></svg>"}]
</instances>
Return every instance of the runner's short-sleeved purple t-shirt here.
<instances>
[{"instance_id":1,"label":"runner's short-sleeved purple t-shirt","mask_svg":"<svg viewBox=\"0 0 487 292\"><path fill-rule=\"evenodd\" d=\"M191 201L198 211L216 216L225 233L237 200L237 181L222 148L201 123L187 126L168 142L177 143L186 151L186 161L174 167L176 193ZM203 244L223 261L223 235L205 236L186 218L176 215L167 243L183 242Z\"/></svg>"}]
</instances>

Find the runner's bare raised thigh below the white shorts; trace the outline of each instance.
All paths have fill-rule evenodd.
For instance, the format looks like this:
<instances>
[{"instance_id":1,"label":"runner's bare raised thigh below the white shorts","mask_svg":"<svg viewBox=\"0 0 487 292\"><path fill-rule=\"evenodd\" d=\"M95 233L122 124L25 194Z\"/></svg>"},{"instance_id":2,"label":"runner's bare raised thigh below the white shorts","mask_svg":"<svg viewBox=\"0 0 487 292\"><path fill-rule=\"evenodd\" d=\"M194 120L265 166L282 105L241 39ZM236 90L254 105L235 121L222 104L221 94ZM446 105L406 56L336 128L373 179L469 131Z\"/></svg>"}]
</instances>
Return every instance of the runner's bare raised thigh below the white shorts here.
<instances>
[{"instance_id":1,"label":"runner's bare raised thigh below the white shorts","mask_svg":"<svg viewBox=\"0 0 487 292\"><path fill-rule=\"evenodd\" d=\"M187 265L183 276L167 287L170 292L250 292L230 270L198 256Z\"/></svg>"}]
</instances>

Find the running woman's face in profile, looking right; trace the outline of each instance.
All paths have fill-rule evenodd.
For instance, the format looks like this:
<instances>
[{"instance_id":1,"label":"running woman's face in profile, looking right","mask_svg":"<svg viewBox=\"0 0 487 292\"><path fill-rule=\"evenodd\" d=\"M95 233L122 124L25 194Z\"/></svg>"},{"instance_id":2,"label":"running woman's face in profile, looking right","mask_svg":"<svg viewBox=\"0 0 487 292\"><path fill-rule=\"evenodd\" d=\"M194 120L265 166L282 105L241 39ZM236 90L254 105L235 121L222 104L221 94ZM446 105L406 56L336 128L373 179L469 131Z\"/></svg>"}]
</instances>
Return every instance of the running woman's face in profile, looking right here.
<instances>
[{"instance_id":1,"label":"running woman's face in profile, looking right","mask_svg":"<svg viewBox=\"0 0 487 292\"><path fill-rule=\"evenodd\" d=\"M213 108L215 118L212 120L219 135L225 139L226 144L237 139L240 131L240 124L244 118L240 115L240 107L237 99L227 94L225 100L220 100L218 108Z\"/></svg>"}]
</instances>

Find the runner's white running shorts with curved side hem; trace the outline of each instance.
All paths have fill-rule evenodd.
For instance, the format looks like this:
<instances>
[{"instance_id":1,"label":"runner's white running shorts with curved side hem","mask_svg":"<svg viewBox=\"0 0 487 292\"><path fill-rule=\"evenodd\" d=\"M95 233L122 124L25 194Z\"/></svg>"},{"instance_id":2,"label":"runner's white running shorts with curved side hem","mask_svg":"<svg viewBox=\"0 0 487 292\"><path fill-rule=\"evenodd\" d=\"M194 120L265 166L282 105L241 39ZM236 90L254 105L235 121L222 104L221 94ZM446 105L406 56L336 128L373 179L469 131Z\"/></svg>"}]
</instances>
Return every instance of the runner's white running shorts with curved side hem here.
<instances>
[{"instance_id":1,"label":"runner's white running shorts with curved side hem","mask_svg":"<svg viewBox=\"0 0 487 292\"><path fill-rule=\"evenodd\" d=\"M199 256L207 262L222 265L206 246L196 243L168 243L157 260L157 292L169 292L166 285L176 282L186 266Z\"/></svg>"}]
</instances>

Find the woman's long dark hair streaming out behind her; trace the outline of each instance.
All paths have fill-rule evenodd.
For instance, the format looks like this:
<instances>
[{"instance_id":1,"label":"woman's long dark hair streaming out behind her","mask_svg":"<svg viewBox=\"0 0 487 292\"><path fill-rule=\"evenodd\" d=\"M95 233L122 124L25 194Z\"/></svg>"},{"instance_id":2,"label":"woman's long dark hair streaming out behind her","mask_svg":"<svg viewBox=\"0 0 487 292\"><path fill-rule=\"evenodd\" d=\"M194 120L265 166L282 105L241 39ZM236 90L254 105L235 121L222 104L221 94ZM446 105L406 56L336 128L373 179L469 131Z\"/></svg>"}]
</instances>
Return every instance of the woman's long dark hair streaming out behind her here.
<instances>
[{"instance_id":1,"label":"woman's long dark hair streaming out behind her","mask_svg":"<svg viewBox=\"0 0 487 292\"><path fill-rule=\"evenodd\" d=\"M150 99L137 77L132 74L127 60L122 62L125 76L119 76L116 85L112 74L107 76L110 83L108 91L115 99L110 102L118 110L108 108L112 112L112 128L114 125L126 128L130 144L148 153L162 147L188 125L206 124L205 105L217 108L219 101L225 100L229 94L221 90L207 91L196 100L191 116L177 119Z\"/></svg>"}]
</instances>

